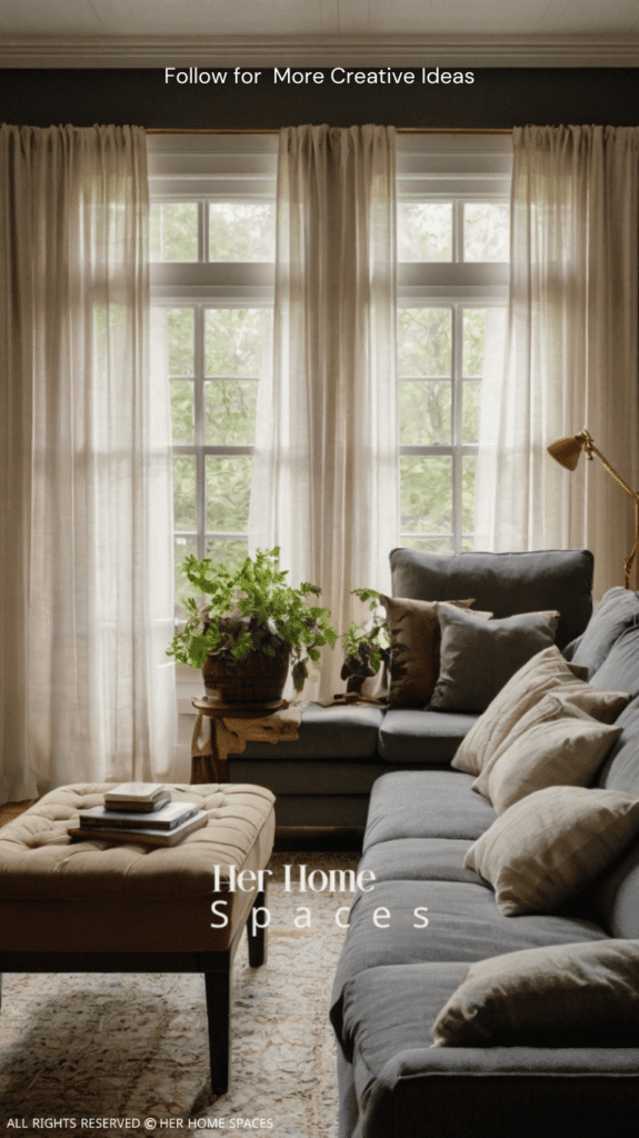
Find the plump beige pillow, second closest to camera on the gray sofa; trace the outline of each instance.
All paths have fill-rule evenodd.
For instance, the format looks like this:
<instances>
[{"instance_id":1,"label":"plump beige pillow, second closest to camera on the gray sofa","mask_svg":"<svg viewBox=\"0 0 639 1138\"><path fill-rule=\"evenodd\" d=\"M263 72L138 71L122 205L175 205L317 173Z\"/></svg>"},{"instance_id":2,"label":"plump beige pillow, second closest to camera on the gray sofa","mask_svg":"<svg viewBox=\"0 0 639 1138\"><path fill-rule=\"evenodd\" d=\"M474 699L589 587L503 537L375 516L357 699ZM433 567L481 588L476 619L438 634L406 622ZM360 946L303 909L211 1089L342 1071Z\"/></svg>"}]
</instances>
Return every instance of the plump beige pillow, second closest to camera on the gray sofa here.
<instances>
[{"instance_id":1,"label":"plump beige pillow, second closest to camera on the gray sofa","mask_svg":"<svg viewBox=\"0 0 639 1138\"><path fill-rule=\"evenodd\" d=\"M495 888L499 910L553 913L639 833L639 798L548 786L526 794L471 846L464 868Z\"/></svg>"}]
</instances>

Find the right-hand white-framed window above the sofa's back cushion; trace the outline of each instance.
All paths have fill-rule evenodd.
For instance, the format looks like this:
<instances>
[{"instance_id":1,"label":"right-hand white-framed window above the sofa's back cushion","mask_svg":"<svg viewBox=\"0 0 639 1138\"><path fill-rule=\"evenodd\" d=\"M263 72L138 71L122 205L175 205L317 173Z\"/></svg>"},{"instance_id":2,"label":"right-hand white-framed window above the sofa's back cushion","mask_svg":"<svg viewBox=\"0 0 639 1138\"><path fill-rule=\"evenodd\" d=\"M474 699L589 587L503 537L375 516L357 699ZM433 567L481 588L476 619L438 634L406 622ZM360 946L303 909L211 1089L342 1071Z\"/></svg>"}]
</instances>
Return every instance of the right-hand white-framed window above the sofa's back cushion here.
<instances>
[{"instance_id":1,"label":"right-hand white-framed window above the sofa's back cushion","mask_svg":"<svg viewBox=\"0 0 639 1138\"><path fill-rule=\"evenodd\" d=\"M506 332L511 139L398 139L400 542L473 549L482 374Z\"/></svg>"}]
</instances>

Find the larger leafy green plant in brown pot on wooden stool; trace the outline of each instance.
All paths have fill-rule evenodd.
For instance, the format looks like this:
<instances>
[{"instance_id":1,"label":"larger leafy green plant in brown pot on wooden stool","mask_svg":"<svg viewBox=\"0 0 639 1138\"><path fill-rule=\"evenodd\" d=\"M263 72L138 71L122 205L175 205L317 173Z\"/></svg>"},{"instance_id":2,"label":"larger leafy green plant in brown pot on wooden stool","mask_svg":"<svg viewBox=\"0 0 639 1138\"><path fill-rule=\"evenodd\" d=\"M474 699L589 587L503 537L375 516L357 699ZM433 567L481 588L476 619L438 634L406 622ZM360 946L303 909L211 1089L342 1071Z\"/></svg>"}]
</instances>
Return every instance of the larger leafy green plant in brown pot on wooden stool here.
<instances>
[{"instance_id":1,"label":"larger leafy green plant in brown pot on wooden stool","mask_svg":"<svg viewBox=\"0 0 639 1138\"><path fill-rule=\"evenodd\" d=\"M334 646L331 613L315 603L321 589L287 584L280 550L258 550L235 569L190 554L183 572L207 597L185 601L188 620L167 649L177 663L204 671L207 695L224 703L273 703L281 699L292 661L296 691L324 644Z\"/></svg>"}]
</instances>

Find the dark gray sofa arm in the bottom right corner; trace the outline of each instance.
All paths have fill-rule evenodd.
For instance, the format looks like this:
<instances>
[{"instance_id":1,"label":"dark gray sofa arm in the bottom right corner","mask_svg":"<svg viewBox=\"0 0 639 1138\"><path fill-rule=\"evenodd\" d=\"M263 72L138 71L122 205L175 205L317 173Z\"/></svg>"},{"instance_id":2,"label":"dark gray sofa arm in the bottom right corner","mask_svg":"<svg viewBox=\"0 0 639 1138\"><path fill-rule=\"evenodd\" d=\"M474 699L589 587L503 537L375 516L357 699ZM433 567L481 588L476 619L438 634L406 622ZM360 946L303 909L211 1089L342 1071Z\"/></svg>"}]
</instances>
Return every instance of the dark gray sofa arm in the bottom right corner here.
<instances>
[{"instance_id":1,"label":"dark gray sofa arm in the bottom right corner","mask_svg":"<svg viewBox=\"0 0 639 1138\"><path fill-rule=\"evenodd\" d=\"M372 1074L356 1050L357 1138L607 1138L639 1105L639 1048L432 1047Z\"/></svg>"}]
</instances>

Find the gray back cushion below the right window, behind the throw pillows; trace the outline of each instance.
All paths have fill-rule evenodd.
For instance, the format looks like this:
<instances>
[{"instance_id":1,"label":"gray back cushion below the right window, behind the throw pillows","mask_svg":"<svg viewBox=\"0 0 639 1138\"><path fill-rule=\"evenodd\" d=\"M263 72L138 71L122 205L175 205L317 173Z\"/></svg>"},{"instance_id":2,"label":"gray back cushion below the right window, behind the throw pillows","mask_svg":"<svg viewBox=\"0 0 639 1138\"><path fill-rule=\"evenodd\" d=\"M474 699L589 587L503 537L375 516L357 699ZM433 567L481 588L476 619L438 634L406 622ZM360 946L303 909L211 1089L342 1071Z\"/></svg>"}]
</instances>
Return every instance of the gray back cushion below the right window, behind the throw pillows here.
<instances>
[{"instance_id":1,"label":"gray back cushion below the right window, behind the throw pillows","mask_svg":"<svg viewBox=\"0 0 639 1138\"><path fill-rule=\"evenodd\" d=\"M474 596L475 609L497 618L557 609L559 648L580 636L591 616L592 566L589 550L439 554L397 549L390 554L396 596L417 601Z\"/></svg>"}]
</instances>

